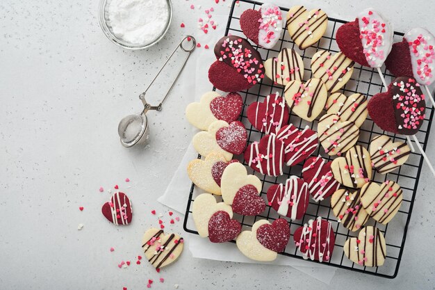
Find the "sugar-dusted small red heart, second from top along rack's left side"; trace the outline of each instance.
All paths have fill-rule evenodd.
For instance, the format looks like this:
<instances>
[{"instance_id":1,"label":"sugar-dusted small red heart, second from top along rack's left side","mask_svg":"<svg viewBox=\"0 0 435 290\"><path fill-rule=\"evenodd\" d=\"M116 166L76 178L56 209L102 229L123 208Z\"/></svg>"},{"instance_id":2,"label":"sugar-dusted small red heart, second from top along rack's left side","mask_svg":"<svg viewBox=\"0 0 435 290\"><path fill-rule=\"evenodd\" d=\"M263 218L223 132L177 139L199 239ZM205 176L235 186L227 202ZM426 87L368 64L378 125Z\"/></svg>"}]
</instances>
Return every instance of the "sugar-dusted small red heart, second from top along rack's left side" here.
<instances>
[{"instance_id":1,"label":"sugar-dusted small red heart, second from top along rack's left side","mask_svg":"<svg viewBox=\"0 0 435 290\"><path fill-rule=\"evenodd\" d=\"M229 127L216 131L216 142L225 151L232 154L242 154L247 142L245 126L240 121L234 121Z\"/></svg>"}]
</instances>

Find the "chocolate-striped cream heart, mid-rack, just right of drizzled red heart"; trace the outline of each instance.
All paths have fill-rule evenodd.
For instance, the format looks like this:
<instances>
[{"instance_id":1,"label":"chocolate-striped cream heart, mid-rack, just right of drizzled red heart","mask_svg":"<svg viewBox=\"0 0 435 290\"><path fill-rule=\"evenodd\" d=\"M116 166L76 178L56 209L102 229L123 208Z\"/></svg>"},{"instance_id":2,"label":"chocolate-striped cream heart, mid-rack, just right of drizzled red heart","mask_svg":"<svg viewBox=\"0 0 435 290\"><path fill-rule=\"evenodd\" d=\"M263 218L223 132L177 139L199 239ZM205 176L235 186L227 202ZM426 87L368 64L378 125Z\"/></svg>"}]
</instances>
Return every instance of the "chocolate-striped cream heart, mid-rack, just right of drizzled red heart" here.
<instances>
[{"instance_id":1,"label":"chocolate-striped cream heart, mid-rack, just right of drizzled red heart","mask_svg":"<svg viewBox=\"0 0 435 290\"><path fill-rule=\"evenodd\" d=\"M329 156L341 156L359 138L359 128L354 122L342 122L335 114L326 114L318 122L318 134L320 144Z\"/></svg>"}]
</instances>

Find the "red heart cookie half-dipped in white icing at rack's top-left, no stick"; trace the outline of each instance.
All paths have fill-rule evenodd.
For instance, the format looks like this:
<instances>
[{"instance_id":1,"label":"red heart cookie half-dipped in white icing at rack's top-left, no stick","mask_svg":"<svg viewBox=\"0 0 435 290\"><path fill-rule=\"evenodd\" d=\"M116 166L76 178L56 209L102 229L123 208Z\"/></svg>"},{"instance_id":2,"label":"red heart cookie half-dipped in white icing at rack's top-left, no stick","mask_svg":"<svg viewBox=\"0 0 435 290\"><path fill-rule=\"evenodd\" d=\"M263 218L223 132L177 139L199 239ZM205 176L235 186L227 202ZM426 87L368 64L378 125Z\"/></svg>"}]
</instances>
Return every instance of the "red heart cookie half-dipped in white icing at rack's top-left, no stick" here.
<instances>
[{"instance_id":1,"label":"red heart cookie half-dipped in white icing at rack's top-left, no stick","mask_svg":"<svg viewBox=\"0 0 435 290\"><path fill-rule=\"evenodd\" d=\"M245 10L240 15L240 28L256 45L271 49L282 34L283 16L278 6L263 3L260 10Z\"/></svg>"}]
</instances>

